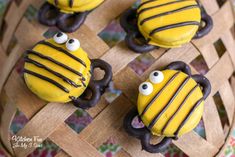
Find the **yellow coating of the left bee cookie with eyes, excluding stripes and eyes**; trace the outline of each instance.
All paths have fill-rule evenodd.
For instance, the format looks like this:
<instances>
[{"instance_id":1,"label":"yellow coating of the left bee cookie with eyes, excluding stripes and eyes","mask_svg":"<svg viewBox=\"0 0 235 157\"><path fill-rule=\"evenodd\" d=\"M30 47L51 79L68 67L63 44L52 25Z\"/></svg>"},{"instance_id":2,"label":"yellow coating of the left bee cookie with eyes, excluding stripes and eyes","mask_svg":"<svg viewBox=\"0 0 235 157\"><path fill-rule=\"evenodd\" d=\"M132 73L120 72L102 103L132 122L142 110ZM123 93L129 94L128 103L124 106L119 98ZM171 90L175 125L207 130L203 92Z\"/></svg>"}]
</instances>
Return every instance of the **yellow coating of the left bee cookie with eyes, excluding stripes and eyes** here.
<instances>
[{"instance_id":1,"label":"yellow coating of the left bee cookie with eyes, excluding stripes and eyes","mask_svg":"<svg viewBox=\"0 0 235 157\"><path fill-rule=\"evenodd\" d=\"M65 44L63 44L63 45L56 44L53 39L49 39L47 41L52 43L53 45L56 45L58 47L63 48L64 50L68 51L65 47ZM42 45L42 44L37 44L33 48L33 50L37 51L38 53L40 53L44 56L51 57L54 60L61 62L65 65L69 66L70 68L82 73L83 77L86 79L84 81L84 84L86 86L88 85L88 83L90 81L90 77L91 77L90 73L89 73L91 62L87 56L87 53L82 48L79 48L77 51L74 51L74 52L69 52L69 51L68 52L71 53L72 55L76 56L77 58L82 59L86 63L87 68L85 68L83 65L81 65L81 63L79 63L76 60L72 59L71 57L63 54L62 52L57 51L56 49L54 49L52 47ZM70 91L69 93L66 93L63 90L59 89L58 87L56 87L55 85L53 85L47 81L44 81L40 78L32 76L28 73L24 73L24 79L25 79L25 82L26 82L28 88L33 93L35 93L38 97L40 97L41 99L48 101L48 102L66 103L66 102L71 101L71 99L69 98L70 96L74 96L77 98L86 89L86 87L84 87L81 83L81 80L80 80L81 77L72 73L71 71L69 71L61 66L58 66L57 64L55 64L51 61L42 59L42 58L35 56L35 55L30 54L30 55L28 55L28 57L30 59L33 59L33 60L49 67L50 69L52 69L54 71L66 76L67 78L74 81L77 85L81 86L81 87L75 88L74 86L63 81L61 78L44 70L43 68L37 67L37 66L30 64L30 63L25 63L25 66L24 66L25 69L36 72L40 75L46 76L46 77L58 82L59 84L61 84L62 86L64 86L65 88L67 88Z\"/></svg>"}]
</instances>

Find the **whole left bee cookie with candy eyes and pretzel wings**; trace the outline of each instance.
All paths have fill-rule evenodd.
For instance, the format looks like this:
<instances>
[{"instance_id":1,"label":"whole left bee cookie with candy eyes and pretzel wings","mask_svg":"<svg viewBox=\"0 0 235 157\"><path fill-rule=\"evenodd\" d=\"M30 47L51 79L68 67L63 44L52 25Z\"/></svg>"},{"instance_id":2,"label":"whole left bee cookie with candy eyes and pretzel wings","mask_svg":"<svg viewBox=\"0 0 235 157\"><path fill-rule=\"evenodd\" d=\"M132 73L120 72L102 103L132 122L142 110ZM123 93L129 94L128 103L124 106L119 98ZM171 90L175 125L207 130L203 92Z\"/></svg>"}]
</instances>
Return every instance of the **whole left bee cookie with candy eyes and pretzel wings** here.
<instances>
[{"instance_id":1,"label":"whole left bee cookie with candy eyes and pretzel wings","mask_svg":"<svg viewBox=\"0 0 235 157\"><path fill-rule=\"evenodd\" d=\"M105 72L101 80L93 77L96 68ZM27 50L24 80L45 101L72 101L75 106L87 109L96 105L108 87L112 68L103 60L90 60L77 39L68 39L65 33L59 32Z\"/></svg>"}]
</instances>

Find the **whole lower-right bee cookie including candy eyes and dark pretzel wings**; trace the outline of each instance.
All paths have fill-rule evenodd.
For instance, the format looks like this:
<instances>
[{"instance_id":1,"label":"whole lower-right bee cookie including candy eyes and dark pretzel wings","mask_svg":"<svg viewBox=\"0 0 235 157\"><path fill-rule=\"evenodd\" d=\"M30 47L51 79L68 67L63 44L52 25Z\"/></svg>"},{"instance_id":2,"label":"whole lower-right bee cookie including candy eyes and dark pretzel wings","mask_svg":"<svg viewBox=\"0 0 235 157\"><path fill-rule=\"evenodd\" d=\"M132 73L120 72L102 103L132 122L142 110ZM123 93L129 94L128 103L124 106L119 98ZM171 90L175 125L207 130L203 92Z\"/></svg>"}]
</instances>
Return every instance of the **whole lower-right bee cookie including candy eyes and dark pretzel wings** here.
<instances>
[{"instance_id":1,"label":"whole lower-right bee cookie including candy eyes and dark pretzel wings","mask_svg":"<svg viewBox=\"0 0 235 157\"><path fill-rule=\"evenodd\" d=\"M202 75L191 75L184 62L173 62L165 70L153 71L149 79L139 86L137 108L124 119L124 128L141 140L142 148L158 153L181 136L193 130L201 120L204 101L211 85ZM142 128L132 126L138 116ZM161 136L162 141L151 144L151 136Z\"/></svg>"}]
</instances>

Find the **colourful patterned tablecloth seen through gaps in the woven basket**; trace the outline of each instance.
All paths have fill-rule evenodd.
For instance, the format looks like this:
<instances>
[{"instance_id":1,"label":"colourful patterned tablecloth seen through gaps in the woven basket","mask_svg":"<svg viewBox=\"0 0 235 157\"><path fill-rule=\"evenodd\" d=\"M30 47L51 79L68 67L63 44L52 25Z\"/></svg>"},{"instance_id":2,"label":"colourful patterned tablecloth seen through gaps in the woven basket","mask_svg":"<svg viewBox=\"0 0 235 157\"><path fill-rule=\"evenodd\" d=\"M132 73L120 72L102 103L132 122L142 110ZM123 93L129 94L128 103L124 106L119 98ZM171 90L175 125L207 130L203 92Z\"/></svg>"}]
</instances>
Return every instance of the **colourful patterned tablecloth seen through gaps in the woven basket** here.
<instances>
[{"instance_id":1,"label":"colourful patterned tablecloth seen through gaps in the woven basket","mask_svg":"<svg viewBox=\"0 0 235 157\"><path fill-rule=\"evenodd\" d=\"M8 0L0 0L0 25L1 18L4 14L6 6L8 4ZM37 10L33 7L29 7L25 16L29 21L35 20ZM57 30L55 28L49 29L44 35L45 37L51 37ZM102 31L99 36L107 42L107 44L112 47L117 42L123 40L125 33L120 28L118 21L112 21L107 28ZM135 72L141 75L151 64L153 63L153 58L144 54L130 63L130 67L135 70ZM16 70L19 74L22 72L23 61L20 61ZM203 62L202 58L198 58L197 61L193 62L192 65L200 72L206 73L206 66ZM112 89L105 93L105 98L108 102L112 102L118 95L121 94L121 91L118 89ZM224 110L223 104L220 103L220 96L215 98L218 102L216 104L219 110L220 117L222 117L222 124L226 125L227 116ZM66 123L74 129L77 133L79 133L82 129L84 129L89 123L91 123L92 118L89 114L83 110L77 110L73 115L71 115ZM16 134L24 125L28 122L27 118L23 115L22 112L18 111L13 123L11 125L11 134ZM138 123L138 120L134 121L135 125L141 125ZM203 138L205 138L205 130L203 121L195 128L195 131ZM121 145L115 142L115 136L111 137L108 141L103 143L97 149L103 153L106 157L112 157L115 153L117 153L121 149ZM55 156L60 151L60 148L56 146L53 142L46 140L41 144L41 147L38 147L29 157L52 157ZM186 157L187 155L180 151L176 146L170 145L168 149L164 152L166 157ZM0 157L4 157L3 152L0 150ZM222 157L235 157L235 129L233 130L233 136L229 139L229 146L223 152Z\"/></svg>"}]
</instances>

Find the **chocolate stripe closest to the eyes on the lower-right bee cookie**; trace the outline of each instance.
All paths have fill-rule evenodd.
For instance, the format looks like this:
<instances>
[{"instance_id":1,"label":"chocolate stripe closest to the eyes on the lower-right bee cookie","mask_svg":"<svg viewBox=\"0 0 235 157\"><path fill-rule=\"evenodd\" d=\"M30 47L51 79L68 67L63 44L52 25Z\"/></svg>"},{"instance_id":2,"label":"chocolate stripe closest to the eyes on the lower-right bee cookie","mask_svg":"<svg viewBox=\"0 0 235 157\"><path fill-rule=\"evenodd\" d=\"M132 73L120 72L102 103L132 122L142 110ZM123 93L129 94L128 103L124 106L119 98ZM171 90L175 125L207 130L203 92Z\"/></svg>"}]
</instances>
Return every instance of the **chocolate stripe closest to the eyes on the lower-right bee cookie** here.
<instances>
[{"instance_id":1,"label":"chocolate stripe closest to the eyes on the lower-right bee cookie","mask_svg":"<svg viewBox=\"0 0 235 157\"><path fill-rule=\"evenodd\" d=\"M162 92L166 89L166 87L179 75L180 71L176 72L170 80L165 84L165 86L154 96L154 98L150 101L148 105L146 105L144 111L141 113L141 117L147 112L147 110L151 107L151 105L157 100L157 98L162 94Z\"/></svg>"}]
</instances>

